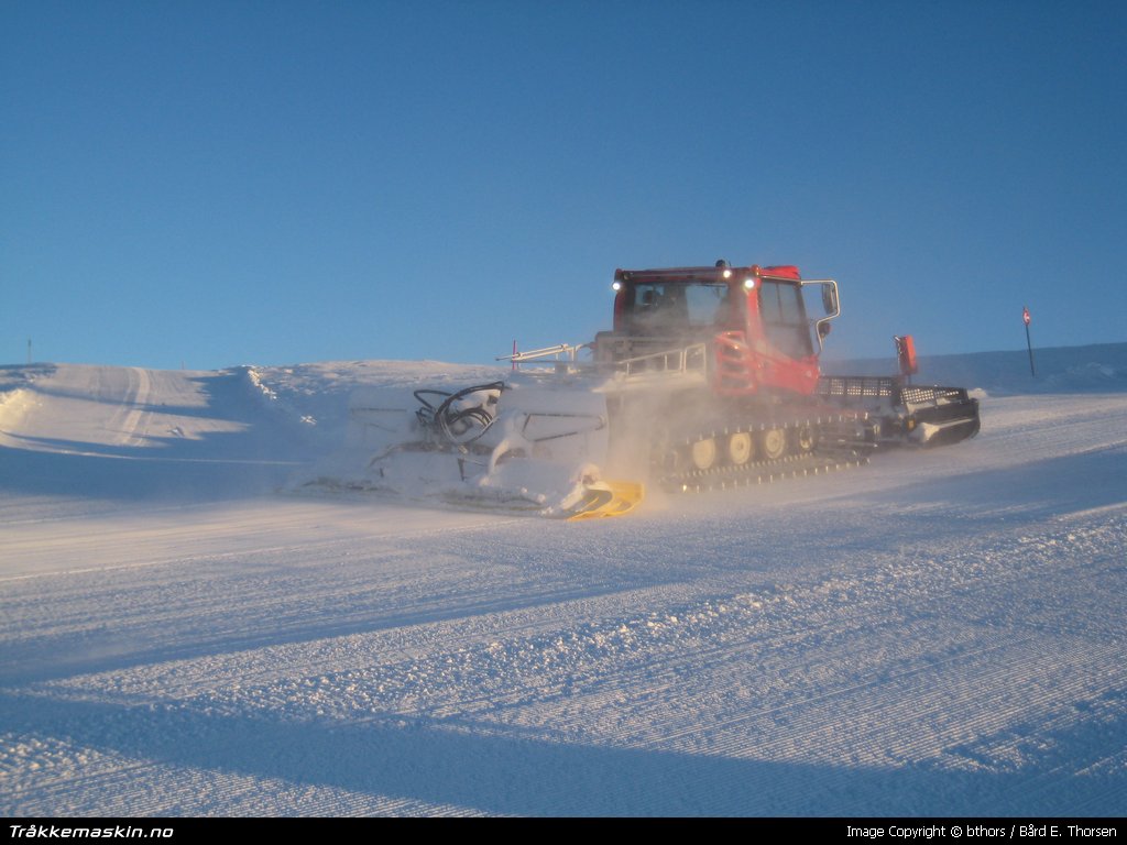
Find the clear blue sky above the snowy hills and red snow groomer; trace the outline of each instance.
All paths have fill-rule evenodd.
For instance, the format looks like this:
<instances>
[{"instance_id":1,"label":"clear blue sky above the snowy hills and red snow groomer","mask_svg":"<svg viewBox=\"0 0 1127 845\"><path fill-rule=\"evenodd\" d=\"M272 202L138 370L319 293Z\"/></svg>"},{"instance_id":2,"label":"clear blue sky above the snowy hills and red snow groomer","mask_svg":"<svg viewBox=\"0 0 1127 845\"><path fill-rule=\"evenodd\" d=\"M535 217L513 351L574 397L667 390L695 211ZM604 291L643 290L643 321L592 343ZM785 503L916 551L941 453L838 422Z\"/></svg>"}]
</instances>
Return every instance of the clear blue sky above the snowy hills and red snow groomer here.
<instances>
[{"instance_id":1,"label":"clear blue sky above the snowy hills and red snow groomer","mask_svg":"<svg viewBox=\"0 0 1127 845\"><path fill-rule=\"evenodd\" d=\"M1127 12L0 0L0 363L487 362L615 267L832 276L836 356L1127 339Z\"/></svg>"}]
</instances>

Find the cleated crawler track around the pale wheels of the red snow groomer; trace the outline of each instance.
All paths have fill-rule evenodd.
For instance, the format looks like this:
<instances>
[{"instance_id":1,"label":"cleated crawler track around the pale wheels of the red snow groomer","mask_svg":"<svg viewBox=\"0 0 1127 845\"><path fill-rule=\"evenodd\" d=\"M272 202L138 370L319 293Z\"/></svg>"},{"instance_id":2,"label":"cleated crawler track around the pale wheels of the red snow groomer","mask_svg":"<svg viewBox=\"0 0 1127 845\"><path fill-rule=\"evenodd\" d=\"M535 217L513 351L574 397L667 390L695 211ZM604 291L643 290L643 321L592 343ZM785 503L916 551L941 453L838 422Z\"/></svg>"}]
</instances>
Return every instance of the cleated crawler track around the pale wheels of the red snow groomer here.
<instances>
[{"instance_id":1,"label":"cleated crawler track around the pale wheels of the red snow groomer","mask_svg":"<svg viewBox=\"0 0 1127 845\"><path fill-rule=\"evenodd\" d=\"M709 437L720 438L734 434L757 434L769 428L782 428L790 439L797 428L810 427L818 432L822 444L815 452L804 455L783 455L780 459L748 461L743 465L718 464L707 470L686 469L680 472L660 474L657 484L673 492L704 492L708 490L730 490L753 484L770 484L786 479L805 478L808 475L825 475L840 470L863 466L869 463L869 455L859 450L871 448L871 444L861 442L838 443L845 434L844 426L853 426L857 417L850 415L818 416L807 419L796 419L788 422L755 422L743 426L725 426L703 429L694 436L678 441L677 447L691 446L696 441Z\"/></svg>"}]
</instances>

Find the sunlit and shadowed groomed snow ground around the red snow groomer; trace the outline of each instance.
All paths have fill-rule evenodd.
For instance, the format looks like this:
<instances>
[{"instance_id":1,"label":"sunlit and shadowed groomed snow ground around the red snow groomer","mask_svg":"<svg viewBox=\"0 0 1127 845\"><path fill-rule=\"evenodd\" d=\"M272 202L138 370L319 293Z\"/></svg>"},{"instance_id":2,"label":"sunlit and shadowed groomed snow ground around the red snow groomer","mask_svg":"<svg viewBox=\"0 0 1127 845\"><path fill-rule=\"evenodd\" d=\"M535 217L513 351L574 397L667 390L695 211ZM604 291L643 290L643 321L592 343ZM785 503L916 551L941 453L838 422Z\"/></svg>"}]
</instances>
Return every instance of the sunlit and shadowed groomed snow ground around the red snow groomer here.
<instances>
[{"instance_id":1,"label":"sunlit and shadowed groomed snow ground around the red snow groomer","mask_svg":"<svg viewBox=\"0 0 1127 845\"><path fill-rule=\"evenodd\" d=\"M281 491L487 367L0 367L0 812L1125 815L1127 345L957 363L971 442L586 523Z\"/></svg>"}]
</instances>

